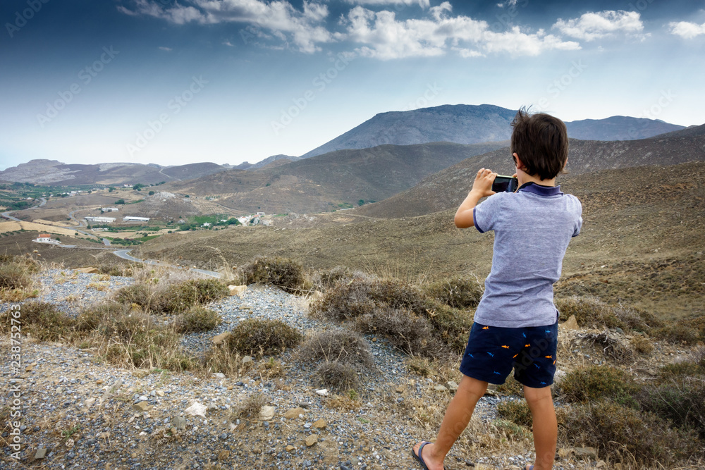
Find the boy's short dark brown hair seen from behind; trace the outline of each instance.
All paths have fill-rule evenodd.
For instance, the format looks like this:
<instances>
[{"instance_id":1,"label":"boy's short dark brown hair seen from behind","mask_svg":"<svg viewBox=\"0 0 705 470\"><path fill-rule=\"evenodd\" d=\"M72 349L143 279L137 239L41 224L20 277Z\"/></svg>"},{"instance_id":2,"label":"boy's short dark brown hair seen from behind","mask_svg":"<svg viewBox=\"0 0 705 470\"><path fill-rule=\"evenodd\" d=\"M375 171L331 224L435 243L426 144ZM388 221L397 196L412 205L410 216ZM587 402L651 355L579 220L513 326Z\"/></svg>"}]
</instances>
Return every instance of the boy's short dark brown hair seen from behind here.
<instances>
[{"instance_id":1,"label":"boy's short dark brown hair seen from behind","mask_svg":"<svg viewBox=\"0 0 705 470\"><path fill-rule=\"evenodd\" d=\"M545 113L529 114L522 108L512 127L512 155L519 155L529 175L550 180L563 173L568 160L568 130L562 120Z\"/></svg>"}]
</instances>

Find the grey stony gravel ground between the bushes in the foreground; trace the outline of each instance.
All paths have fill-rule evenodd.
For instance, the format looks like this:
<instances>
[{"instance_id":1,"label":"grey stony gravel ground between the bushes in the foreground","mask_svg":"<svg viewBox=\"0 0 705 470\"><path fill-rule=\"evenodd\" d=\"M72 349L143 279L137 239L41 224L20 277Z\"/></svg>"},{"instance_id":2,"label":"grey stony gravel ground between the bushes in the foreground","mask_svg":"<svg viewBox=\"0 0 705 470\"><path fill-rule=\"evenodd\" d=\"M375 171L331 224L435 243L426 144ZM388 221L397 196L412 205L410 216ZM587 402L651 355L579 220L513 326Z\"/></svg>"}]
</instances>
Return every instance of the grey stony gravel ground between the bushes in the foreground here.
<instances>
[{"instance_id":1,"label":"grey stony gravel ground between the bushes in the foreground","mask_svg":"<svg viewBox=\"0 0 705 470\"><path fill-rule=\"evenodd\" d=\"M50 270L38 279L42 283L39 300L72 315L133 282L70 270ZM271 287L250 286L242 297L227 297L208 307L221 314L223 323L183 338L183 345L195 354L202 353L214 335L248 318L281 319L305 333L339 328L310 319L300 297ZM242 377L200 378L190 373L118 369L95 361L87 350L25 341L26 370L20 381L25 459L22 463L11 459L5 445L0 466L23 468L39 451L45 455L32 466L47 469L418 470L410 448L417 440L431 438L433 431L419 421L416 407L424 400L437 400L443 406L448 393L435 392L438 384L410 373L404 355L386 340L372 336L367 340L376 371L364 377L364 390L352 407L334 407L333 397L319 395L315 364L298 361L295 351L276 357L286 369L283 378L263 380L251 372ZM8 383L8 338L0 345L3 378ZM230 410L255 392L274 407L271 421L231 421ZM8 404L10 397L11 393L4 393L2 404ZM532 459L526 443L508 445L503 454L479 451L483 439L501 440L489 437L494 429L489 421L503 399L482 398L476 413L482 418L473 426L488 436L471 438L467 442L474 443L472 448L456 445L446 461L453 468L503 469ZM204 416L185 411L195 402L204 405ZM292 418L284 416L298 407L300 412ZM310 443L312 435L317 442L309 446L305 441L309 438ZM8 439L7 430L3 438ZM554 468L583 468L579 465Z\"/></svg>"}]
</instances>

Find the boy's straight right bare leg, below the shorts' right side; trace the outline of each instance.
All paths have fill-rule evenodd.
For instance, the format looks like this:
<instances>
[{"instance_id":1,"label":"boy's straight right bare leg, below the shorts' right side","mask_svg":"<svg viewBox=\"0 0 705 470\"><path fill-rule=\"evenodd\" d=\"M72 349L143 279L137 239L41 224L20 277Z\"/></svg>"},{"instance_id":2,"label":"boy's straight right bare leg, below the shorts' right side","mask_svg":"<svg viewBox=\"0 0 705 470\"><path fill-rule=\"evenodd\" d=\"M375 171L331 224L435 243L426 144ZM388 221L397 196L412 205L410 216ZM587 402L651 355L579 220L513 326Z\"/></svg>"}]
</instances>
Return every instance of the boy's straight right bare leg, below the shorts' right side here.
<instances>
[{"instance_id":1,"label":"boy's straight right bare leg, below the shorts' right side","mask_svg":"<svg viewBox=\"0 0 705 470\"><path fill-rule=\"evenodd\" d=\"M534 447L536 447L534 470L551 470L558 439L558 424L556 410L553 409L551 387L531 388L524 385L524 396L534 419ZM425 447L424 450L426 450Z\"/></svg>"}]
</instances>

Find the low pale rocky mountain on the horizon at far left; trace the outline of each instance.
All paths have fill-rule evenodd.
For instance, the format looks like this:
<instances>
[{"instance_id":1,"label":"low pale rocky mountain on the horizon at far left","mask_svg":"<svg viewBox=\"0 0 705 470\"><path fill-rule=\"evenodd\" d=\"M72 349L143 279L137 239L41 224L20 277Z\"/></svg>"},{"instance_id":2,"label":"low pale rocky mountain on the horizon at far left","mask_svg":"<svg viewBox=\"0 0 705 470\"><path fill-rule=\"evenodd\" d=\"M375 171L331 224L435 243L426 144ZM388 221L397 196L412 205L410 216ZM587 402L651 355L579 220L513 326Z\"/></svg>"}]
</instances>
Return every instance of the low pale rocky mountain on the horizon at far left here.
<instances>
[{"instance_id":1,"label":"low pale rocky mountain on the horizon at far left","mask_svg":"<svg viewBox=\"0 0 705 470\"><path fill-rule=\"evenodd\" d=\"M0 180L37 185L134 185L161 181L200 178L226 168L216 163L190 163L159 166L154 163L66 164L57 160L37 159L0 171Z\"/></svg>"}]
</instances>

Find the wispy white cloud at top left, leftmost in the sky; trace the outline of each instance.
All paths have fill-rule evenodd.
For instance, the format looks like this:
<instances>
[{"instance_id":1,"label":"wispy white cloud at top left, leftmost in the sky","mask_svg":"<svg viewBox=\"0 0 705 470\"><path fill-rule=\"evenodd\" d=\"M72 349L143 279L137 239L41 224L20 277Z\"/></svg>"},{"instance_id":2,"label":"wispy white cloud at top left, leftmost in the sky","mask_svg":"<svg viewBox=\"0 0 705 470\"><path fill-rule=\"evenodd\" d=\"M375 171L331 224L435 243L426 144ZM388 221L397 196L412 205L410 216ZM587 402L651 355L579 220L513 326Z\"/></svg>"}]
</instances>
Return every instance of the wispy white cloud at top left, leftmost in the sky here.
<instances>
[{"instance_id":1,"label":"wispy white cloud at top left, leftmost in the sky","mask_svg":"<svg viewBox=\"0 0 705 470\"><path fill-rule=\"evenodd\" d=\"M118 6L118 11L133 16L154 16L176 25L191 21L202 24L250 23L254 36L267 37L259 34L259 30L269 30L283 42L290 40L296 49L306 53L319 51L321 48L317 44L332 42L339 37L320 25L328 16L328 6L313 1L305 0L303 11L284 0L189 0L189 3L192 5L176 3L164 7L150 0L135 0L134 10Z\"/></svg>"}]
</instances>

